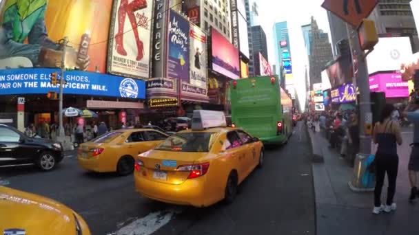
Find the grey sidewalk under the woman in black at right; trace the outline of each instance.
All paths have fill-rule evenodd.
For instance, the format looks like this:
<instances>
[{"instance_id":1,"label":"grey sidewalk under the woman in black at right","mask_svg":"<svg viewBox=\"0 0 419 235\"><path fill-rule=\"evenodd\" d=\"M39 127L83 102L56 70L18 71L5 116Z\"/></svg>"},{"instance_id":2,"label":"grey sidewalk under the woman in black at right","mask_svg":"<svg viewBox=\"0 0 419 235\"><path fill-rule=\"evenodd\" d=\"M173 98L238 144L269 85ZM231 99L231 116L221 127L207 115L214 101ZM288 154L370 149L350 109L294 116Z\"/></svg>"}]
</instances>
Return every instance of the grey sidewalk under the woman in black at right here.
<instances>
[{"instance_id":1,"label":"grey sidewalk under the woman in black at right","mask_svg":"<svg viewBox=\"0 0 419 235\"><path fill-rule=\"evenodd\" d=\"M329 150L324 133L309 130L309 135L315 155L312 168L316 192L316 234L419 234L419 199L416 199L416 205L407 200L410 192L407 163L412 133L403 133L404 144L398 148L400 161L394 198L398 209L379 215L371 214L373 192L353 192L349 189L348 182L354 169L340 158L336 150ZM318 160L319 157L323 158L322 161ZM387 196L387 177L385 181L382 201Z\"/></svg>"}]
</instances>

